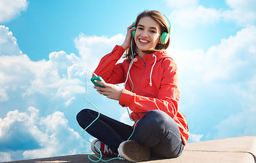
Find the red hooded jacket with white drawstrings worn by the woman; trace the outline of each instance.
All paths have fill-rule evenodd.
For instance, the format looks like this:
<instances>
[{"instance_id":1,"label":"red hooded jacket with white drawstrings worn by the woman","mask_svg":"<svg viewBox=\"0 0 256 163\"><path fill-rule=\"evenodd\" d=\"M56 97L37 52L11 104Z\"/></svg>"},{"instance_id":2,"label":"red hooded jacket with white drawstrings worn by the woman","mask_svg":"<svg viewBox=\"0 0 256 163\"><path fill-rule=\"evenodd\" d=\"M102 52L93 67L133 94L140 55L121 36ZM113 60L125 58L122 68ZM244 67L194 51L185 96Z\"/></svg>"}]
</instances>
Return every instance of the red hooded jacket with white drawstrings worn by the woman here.
<instances>
[{"instance_id":1,"label":"red hooded jacket with white drawstrings worn by the woman","mask_svg":"<svg viewBox=\"0 0 256 163\"><path fill-rule=\"evenodd\" d=\"M130 62L125 59L116 64L124 52L121 46L116 46L110 54L101 58L95 73L106 83L121 84L126 81ZM135 56L129 74L133 84L128 78L119 104L133 111L131 119L140 120L150 110L164 111L178 124L186 145L189 129L186 117L178 110L180 91L174 60L165 51L146 54L143 60Z\"/></svg>"}]
</instances>

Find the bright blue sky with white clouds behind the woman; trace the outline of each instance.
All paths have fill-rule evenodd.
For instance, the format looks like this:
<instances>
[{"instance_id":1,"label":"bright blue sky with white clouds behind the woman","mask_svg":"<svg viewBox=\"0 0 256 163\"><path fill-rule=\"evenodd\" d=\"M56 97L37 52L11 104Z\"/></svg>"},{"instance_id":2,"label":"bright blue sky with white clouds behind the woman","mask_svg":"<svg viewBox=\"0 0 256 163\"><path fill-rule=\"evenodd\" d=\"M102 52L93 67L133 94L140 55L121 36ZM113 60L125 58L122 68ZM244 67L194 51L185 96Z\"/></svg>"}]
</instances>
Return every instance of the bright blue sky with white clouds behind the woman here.
<instances>
[{"instance_id":1,"label":"bright blue sky with white clouds behind the woman","mask_svg":"<svg viewBox=\"0 0 256 163\"><path fill-rule=\"evenodd\" d=\"M255 0L0 0L0 162L91 152L84 137L93 137L76 122L95 109L84 101L86 79L144 10L170 19L167 52L189 143L256 136L255 8ZM91 82L86 99L133 124Z\"/></svg>"}]
</instances>

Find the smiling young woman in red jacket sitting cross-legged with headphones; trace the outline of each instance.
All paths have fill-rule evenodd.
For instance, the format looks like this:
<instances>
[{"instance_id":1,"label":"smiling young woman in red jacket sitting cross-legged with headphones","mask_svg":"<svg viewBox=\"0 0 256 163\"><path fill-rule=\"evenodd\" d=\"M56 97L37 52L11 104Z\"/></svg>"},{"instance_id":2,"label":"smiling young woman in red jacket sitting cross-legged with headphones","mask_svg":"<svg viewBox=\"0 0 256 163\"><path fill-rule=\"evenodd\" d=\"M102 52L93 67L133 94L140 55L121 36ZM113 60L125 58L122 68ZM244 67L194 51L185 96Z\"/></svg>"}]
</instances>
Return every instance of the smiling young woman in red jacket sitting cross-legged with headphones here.
<instances>
[{"instance_id":1,"label":"smiling young woman in red jacket sitting cross-legged with headphones","mask_svg":"<svg viewBox=\"0 0 256 163\"><path fill-rule=\"evenodd\" d=\"M134 38L131 31L135 31ZM167 34L166 40L163 40L163 33ZM142 12L127 28L123 44L101 58L95 74L104 79L105 82L97 84L105 88L94 88L122 107L129 107L133 111L131 119L139 120L129 126L99 115L86 132L97 138L93 143L104 156L119 154L126 160L139 162L150 156L176 158L182 153L189 130L185 116L178 110L180 92L176 63L165 52L170 43L169 33L170 22L165 16L157 11ZM128 50L126 59L116 64L125 50ZM121 83L125 83L125 89L115 85ZM86 128L97 115L96 111L83 109L77 120ZM134 133L127 141L133 128ZM99 154L95 147L91 149Z\"/></svg>"}]
</instances>

